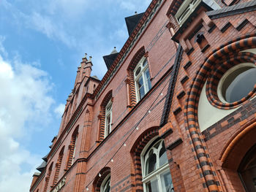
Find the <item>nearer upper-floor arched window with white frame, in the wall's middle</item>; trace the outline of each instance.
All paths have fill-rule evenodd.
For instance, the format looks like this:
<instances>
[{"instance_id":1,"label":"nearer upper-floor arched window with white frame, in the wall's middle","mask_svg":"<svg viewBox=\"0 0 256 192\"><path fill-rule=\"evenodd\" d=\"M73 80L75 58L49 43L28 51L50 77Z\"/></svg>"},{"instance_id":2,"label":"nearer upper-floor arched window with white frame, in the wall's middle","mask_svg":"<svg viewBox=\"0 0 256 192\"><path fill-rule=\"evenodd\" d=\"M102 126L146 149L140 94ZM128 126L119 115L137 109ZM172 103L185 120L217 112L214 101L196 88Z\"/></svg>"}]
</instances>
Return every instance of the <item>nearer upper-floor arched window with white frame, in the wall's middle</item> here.
<instances>
[{"instance_id":1,"label":"nearer upper-floor arched window with white frame, in the wall's middle","mask_svg":"<svg viewBox=\"0 0 256 192\"><path fill-rule=\"evenodd\" d=\"M134 70L135 77L135 89L136 89L136 99L140 99L145 96L148 90L151 89L151 80L148 71L148 61L145 57L141 58L138 65Z\"/></svg>"}]
</instances>

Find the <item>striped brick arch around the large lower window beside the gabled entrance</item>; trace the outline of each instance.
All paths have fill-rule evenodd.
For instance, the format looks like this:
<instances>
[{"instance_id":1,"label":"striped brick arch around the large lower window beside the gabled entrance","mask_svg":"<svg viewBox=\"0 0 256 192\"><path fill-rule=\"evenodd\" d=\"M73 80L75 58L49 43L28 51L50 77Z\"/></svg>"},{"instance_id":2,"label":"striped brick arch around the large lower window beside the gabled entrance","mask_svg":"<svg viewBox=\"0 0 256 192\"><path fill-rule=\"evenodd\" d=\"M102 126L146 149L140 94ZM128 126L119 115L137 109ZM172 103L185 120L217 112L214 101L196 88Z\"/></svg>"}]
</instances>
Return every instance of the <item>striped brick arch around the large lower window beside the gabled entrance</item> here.
<instances>
[{"instance_id":1,"label":"striped brick arch around the large lower window beside the gabled entrance","mask_svg":"<svg viewBox=\"0 0 256 192\"><path fill-rule=\"evenodd\" d=\"M143 151L144 147L147 143L158 136L159 127L149 128L143 134L138 137L135 144L132 147L131 153L133 154L133 162L135 165L135 189L136 192L143 191L143 183L142 183L142 169L141 169L141 161L140 154Z\"/></svg>"}]
</instances>

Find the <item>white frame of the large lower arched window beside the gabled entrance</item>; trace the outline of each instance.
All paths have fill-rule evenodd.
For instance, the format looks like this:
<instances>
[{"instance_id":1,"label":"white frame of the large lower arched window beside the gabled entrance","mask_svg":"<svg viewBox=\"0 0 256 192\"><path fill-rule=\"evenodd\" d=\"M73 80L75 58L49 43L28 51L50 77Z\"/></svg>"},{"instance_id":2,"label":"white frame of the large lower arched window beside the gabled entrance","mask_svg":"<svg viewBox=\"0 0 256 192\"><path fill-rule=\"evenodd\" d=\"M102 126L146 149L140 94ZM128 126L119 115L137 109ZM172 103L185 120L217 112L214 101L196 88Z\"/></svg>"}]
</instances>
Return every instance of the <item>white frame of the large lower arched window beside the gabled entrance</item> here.
<instances>
[{"instance_id":1,"label":"white frame of the large lower arched window beside the gabled entrance","mask_svg":"<svg viewBox=\"0 0 256 192\"><path fill-rule=\"evenodd\" d=\"M160 153L161 147L159 147L158 149L154 148L154 145L157 145L158 142L159 142L159 146L162 145L162 142L164 142L164 140L159 139L159 141L157 141L156 143L154 143L153 146L151 146L151 144L157 138L158 137L154 137L154 139L151 139L151 141L148 142L146 147L144 147L144 149L143 149L143 151L140 155L142 175L143 175L143 180L142 180L142 182L143 182L143 191L146 191L146 192L147 192L146 183L148 183L148 181L150 181L154 177L157 178L157 184L158 184L159 192L165 192L165 191L162 190L161 177L160 176L164 173L170 172L168 162L166 164L162 165L162 166L159 166L159 153ZM148 147L150 147L150 148L148 148ZM151 149L154 150L154 153L157 153L157 162L156 162L157 168L153 172L146 175L146 161L148 159L148 155L149 155L149 152L151 151Z\"/></svg>"}]
</instances>

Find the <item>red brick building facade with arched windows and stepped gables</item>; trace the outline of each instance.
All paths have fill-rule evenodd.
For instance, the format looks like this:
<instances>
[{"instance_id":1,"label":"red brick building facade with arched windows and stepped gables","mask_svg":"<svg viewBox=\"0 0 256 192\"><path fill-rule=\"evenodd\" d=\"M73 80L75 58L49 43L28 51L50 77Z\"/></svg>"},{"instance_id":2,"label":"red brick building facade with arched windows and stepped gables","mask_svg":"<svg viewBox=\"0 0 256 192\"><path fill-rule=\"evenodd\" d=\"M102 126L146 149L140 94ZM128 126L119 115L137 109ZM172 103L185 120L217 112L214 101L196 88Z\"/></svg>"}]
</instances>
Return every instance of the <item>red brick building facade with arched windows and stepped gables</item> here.
<instances>
[{"instance_id":1,"label":"red brick building facade with arched windows and stepped gables","mask_svg":"<svg viewBox=\"0 0 256 192\"><path fill-rule=\"evenodd\" d=\"M256 1L153 0L78 67L30 191L256 191Z\"/></svg>"}]
</instances>

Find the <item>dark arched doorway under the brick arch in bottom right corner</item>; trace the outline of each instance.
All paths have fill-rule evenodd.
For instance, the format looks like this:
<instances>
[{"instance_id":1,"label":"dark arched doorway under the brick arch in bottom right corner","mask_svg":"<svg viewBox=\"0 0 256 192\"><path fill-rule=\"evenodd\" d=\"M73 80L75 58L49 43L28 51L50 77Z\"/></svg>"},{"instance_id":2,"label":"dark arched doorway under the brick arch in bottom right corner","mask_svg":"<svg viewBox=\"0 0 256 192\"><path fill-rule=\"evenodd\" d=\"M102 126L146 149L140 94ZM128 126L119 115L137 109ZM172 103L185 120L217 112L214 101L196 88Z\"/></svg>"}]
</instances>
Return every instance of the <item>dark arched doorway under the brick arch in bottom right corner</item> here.
<instances>
[{"instance_id":1,"label":"dark arched doorway under the brick arch in bottom right corner","mask_svg":"<svg viewBox=\"0 0 256 192\"><path fill-rule=\"evenodd\" d=\"M246 191L256 191L256 145L244 155L238 174Z\"/></svg>"}]
</instances>

